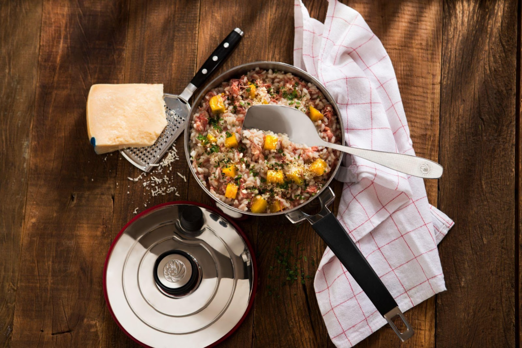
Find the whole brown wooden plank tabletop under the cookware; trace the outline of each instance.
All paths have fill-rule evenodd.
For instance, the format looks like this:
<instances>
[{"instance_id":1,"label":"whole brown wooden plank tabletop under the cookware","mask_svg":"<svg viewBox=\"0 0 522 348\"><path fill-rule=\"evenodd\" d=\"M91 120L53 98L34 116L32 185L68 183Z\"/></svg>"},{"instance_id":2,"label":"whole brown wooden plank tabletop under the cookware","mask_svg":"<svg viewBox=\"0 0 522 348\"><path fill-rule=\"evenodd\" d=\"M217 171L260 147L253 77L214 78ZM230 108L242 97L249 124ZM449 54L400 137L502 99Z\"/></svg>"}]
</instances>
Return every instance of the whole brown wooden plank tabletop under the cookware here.
<instances>
[{"instance_id":1,"label":"whole brown wooden plank tabletop under the cookware","mask_svg":"<svg viewBox=\"0 0 522 348\"><path fill-rule=\"evenodd\" d=\"M346 3L387 49L416 152L445 168L442 179L426 182L429 200L456 223L440 244L447 291L406 314L416 335L401 344L385 327L358 346L518 347L521 1ZM245 36L220 71L257 60L292 63L292 4L0 3L0 345L136 346L103 298L111 241L136 207L210 199L183 157L175 169L188 183L169 174L178 198L151 197L127 179L139 171L121 156L96 155L85 122L89 88L163 83L181 92L234 27ZM305 5L324 20L326 0ZM175 146L182 152L183 140ZM307 256L301 266L313 276L323 242L309 224L284 217L240 224L257 254L258 294L220 346L333 346L312 279L277 291L270 285L281 276L270 270L278 246Z\"/></svg>"}]
</instances>

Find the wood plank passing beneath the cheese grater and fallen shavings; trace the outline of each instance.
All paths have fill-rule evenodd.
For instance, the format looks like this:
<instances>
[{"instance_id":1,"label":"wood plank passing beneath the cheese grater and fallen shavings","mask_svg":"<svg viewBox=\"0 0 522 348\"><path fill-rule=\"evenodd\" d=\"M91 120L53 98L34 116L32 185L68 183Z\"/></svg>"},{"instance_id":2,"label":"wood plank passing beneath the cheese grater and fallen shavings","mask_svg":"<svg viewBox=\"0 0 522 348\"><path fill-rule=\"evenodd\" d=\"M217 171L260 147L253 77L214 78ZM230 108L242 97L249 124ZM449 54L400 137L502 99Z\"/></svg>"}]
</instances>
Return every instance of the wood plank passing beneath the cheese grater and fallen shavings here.
<instances>
[{"instance_id":1,"label":"wood plank passing beneath the cheese grater and fallen shavings","mask_svg":"<svg viewBox=\"0 0 522 348\"><path fill-rule=\"evenodd\" d=\"M131 1L125 83L162 83L165 92L181 93L196 72L198 21L197 1ZM188 184L177 174L179 172L187 178L189 175L183 136L177 139L175 148L179 159L171 166L154 170L136 182L128 177L137 178L142 172L118 155L111 238L135 216L134 212L139 213L160 203L186 199ZM167 177L169 183L163 181L158 187L174 187L176 190L165 195L153 195L152 176ZM144 186L144 182L149 184ZM176 192L179 196L175 195ZM109 312L105 313L103 333L104 346L137 346L117 327Z\"/></svg>"}]
</instances>

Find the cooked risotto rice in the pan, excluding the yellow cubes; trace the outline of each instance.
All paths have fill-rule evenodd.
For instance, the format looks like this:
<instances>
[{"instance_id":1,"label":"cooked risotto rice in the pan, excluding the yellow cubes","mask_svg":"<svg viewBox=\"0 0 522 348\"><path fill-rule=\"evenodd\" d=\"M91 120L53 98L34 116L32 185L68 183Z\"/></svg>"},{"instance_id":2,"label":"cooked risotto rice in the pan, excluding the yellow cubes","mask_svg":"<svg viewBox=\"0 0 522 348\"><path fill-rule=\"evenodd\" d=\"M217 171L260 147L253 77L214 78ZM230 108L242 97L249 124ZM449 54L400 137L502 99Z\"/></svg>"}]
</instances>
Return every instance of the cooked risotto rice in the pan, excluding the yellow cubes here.
<instances>
[{"instance_id":1,"label":"cooked risotto rice in the pan, excluding the yellow cubes","mask_svg":"<svg viewBox=\"0 0 522 348\"><path fill-rule=\"evenodd\" d=\"M250 86L256 86L255 97L250 96ZM209 101L222 95L225 112L212 114ZM191 131L191 160L194 171L203 185L221 201L243 211L249 211L252 201L259 197L268 201L265 213L269 213L272 203L278 201L282 210L298 206L320 191L328 181L331 170L337 165L340 153L327 147L306 147L290 142L285 134L274 134L259 130L242 130L246 110L252 105L277 104L295 107L309 114L312 106L324 115L314 122L323 140L339 143L340 130L337 115L321 91L311 83L288 73L255 69L241 76L223 82L210 90L194 114ZM227 133L235 134L239 145L227 148L224 143ZM212 143L210 134L216 138ZM266 135L278 137L275 150L265 150ZM230 135L228 135L230 136ZM322 175L314 176L310 164L317 158L326 161L327 168ZM223 175L222 170L235 165L234 178ZM296 184L286 174L292 169L302 171L303 182ZM267 171L282 169L284 183L268 183ZM235 199L226 198L229 183L239 185Z\"/></svg>"}]
</instances>

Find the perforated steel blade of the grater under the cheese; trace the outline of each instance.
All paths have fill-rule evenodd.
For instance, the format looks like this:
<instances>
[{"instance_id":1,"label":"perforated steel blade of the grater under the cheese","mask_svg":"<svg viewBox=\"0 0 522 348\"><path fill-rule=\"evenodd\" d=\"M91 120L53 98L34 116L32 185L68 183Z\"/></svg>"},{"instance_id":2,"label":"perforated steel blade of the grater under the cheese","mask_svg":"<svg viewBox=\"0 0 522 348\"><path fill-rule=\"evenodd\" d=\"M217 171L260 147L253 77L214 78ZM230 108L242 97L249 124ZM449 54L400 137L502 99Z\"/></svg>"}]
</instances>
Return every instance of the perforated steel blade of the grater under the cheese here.
<instances>
[{"instance_id":1,"label":"perforated steel blade of the grater under the cheese","mask_svg":"<svg viewBox=\"0 0 522 348\"><path fill-rule=\"evenodd\" d=\"M120 150L121 154L134 166L143 171L150 171L172 146L176 138L183 132L185 121L190 113L190 106L178 96L165 94L165 114L167 126L151 146L128 147Z\"/></svg>"}]
</instances>

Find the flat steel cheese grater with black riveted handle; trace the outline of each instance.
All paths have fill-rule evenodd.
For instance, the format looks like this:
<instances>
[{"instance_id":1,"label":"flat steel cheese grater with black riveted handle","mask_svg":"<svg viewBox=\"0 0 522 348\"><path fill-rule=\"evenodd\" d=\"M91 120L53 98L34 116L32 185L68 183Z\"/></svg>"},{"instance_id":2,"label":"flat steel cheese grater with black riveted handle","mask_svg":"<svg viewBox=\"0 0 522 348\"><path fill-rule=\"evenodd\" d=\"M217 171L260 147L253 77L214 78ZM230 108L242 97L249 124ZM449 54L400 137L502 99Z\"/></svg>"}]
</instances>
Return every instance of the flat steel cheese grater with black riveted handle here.
<instances>
[{"instance_id":1,"label":"flat steel cheese grater with black riveted handle","mask_svg":"<svg viewBox=\"0 0 522 348\"><path fill-rule=\"evenodd\" d=\"M148 172L160 161L165 152L172 146L174 141L180 136L185 127L187 117L191 112L188 99L192 97L194 91L208 79L210 74L223 63L232 53L243 37L243 31L239 28L232 30L230 34L219 44L218 48L212 52L203 66L183 90L179 96L165 93L163 99L167 109L167 127L151 146L147 147L128 147L120 150L120 153L130 163L139 169Z\"/></svg>"}]
</instances>

